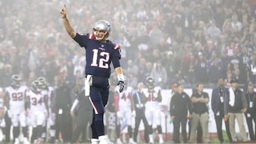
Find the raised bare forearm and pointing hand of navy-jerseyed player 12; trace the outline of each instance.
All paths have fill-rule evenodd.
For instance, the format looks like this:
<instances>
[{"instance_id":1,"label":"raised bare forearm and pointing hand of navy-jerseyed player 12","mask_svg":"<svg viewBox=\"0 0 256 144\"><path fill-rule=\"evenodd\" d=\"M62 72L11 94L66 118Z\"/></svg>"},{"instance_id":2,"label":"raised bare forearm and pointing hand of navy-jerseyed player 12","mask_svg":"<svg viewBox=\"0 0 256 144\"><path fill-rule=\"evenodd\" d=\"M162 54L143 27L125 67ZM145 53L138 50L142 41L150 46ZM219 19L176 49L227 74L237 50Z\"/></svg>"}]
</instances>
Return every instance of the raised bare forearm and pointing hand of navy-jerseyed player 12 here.
<instances>
[{"instance_id":1,"label":"raised bare forearm and pointing hand of navy-jerseyed player 12","mask_svg":"<svg viewBox=\"0 0 256 144\"><path fill-rule=\"evenodd\" d=\"M63 9L60 9L60 16L63 18L63 24L65 26L65 30L68 32L68 35L70 35L71 38L75 38L76 32L70 25L68 18L67 18L67 11L66 6L64 5Z\"/></svg>"}]
</instances>

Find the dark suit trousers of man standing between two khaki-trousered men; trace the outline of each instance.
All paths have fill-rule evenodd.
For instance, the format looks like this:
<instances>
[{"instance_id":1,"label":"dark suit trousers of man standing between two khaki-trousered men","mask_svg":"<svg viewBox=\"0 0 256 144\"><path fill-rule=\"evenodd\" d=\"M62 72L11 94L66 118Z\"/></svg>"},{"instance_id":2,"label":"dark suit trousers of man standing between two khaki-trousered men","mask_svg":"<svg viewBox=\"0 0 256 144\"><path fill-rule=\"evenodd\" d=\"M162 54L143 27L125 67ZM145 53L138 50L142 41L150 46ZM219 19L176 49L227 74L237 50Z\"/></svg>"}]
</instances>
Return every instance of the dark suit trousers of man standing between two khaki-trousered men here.
<instances>
[{"instance_id":1,"label":"dark suit trousers of man standing between two khaki-trousered men","mask_svg":"<svg viewBox=\"0 0 256 144\"><path fill-rule=\"evenodd\" d=\"M216 114L214 114L214 118L215 118L215 123L217 127L218 139L220 140L220 142L223 142L224 139L223 139L223 131L222 131L222 121L223 121L224 115L220 114L219 116L217 116ZM228 121L225 121L225 129L228 135L229 142L232 142Z\"/></svg>"}]
</instances>

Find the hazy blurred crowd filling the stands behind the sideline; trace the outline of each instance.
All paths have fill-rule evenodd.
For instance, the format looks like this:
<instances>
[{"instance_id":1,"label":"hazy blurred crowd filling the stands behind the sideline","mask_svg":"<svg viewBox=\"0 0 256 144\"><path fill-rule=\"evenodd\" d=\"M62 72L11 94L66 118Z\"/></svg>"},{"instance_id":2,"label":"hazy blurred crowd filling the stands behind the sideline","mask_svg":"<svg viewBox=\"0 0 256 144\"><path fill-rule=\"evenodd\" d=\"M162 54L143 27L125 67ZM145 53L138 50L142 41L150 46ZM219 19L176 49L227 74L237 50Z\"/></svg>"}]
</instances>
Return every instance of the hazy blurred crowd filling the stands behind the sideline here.
<instances>
[{"instance_id":1,"label":"hazy blurred crowd filling the stands behind the sideline","mask_svg":"<svg viewBox=\"0 0 256 144\"><path fill-rule=\"evenodd\" d=\"M92 33L94 23L112 24L110 40L122 47L127 82L137 87L151 75L156 85L174 82L206 86L256 80L256 1L254 0L95 0L0 1L0 87L12 74L26 84L59 74L70 84L82 77L84 50L65 33L59 9L70 23Z\"/></svg>"}]
</instances>

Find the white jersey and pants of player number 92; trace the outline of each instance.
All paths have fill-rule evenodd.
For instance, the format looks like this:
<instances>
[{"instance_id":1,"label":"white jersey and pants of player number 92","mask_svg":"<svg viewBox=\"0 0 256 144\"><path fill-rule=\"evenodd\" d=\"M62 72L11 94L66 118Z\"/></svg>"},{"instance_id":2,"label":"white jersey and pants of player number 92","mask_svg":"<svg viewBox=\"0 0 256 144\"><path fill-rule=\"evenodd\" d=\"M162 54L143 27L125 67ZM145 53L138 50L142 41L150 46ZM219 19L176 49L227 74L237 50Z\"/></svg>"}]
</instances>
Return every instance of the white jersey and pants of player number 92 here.
<instances>
[{"instance_id":1,"label":"white jersey and pants of player number 92","mask_svg":"<svg viewBox=\"0 0 256 144\"><path fill-rule=\"evenodd\" d=\"M28 87L21 86L17 89L6 87L6 93L9 94L9 117L13 126L26 126L25 99Z\"/></svg>"}]
</instances>

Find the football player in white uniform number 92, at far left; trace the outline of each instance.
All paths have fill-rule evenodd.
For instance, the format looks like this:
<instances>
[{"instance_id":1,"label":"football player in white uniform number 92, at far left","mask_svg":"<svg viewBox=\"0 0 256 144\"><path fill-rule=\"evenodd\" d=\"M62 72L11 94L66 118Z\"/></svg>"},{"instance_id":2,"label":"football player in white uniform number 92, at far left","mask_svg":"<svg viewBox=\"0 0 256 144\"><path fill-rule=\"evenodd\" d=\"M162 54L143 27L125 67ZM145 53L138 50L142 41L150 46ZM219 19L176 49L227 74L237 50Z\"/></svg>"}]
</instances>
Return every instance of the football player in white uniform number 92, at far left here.
<instances>
[{"instance_id":1,"label":"football player in white uniform number 92, at far left","mask_svg":"<svg viewBox=\"0 0 256 144\"><path fill-rule=\"evenodd\" d=\"M6 96L4 98L4 104L8 111L8 115L11 118L11 124L13 128L14 144L19 143L18 135L20 133L20 127L22 127L22 133L24 135L23 143L29 143L28 141L28 127L26 123L26 117L28 111L25 109L25 99L28 87L21 86L21 77L18 74L11 76L11 86L6 87Z\"/></svg>"}]
</instances>

